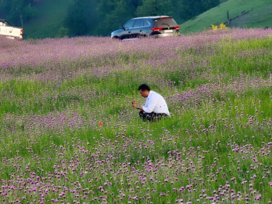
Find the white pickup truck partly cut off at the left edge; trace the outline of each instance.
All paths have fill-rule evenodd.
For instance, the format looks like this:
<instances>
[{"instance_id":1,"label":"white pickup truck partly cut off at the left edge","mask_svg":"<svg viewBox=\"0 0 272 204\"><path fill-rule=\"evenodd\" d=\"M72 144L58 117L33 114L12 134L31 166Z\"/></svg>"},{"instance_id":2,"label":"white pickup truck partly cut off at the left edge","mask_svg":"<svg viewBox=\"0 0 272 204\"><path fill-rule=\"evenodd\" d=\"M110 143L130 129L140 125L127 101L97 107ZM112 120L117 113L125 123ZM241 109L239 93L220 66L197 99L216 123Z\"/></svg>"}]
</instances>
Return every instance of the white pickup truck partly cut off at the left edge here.
<instances>
[{"instance_id":1,"label":"white pickup truck partly cut off at the left edge","mask_svg":"<svg viewBox=\"0 0 272 204\"><path fill-rule=\"evenodd\" d=\"M11 39L23 39L23 28L13 27L8 21L0 20L0 35Z\"/></svg>"}]
</instances>

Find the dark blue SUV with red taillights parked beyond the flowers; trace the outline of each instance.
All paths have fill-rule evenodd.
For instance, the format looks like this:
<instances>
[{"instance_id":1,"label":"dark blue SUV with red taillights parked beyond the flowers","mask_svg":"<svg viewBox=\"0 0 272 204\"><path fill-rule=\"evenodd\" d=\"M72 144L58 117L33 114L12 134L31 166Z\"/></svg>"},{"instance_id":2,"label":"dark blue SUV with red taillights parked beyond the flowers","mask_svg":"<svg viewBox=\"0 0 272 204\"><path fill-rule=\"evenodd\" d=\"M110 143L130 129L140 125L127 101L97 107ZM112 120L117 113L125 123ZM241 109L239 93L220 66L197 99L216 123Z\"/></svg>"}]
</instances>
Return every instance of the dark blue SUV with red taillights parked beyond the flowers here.
<instances>
[{"instance_id":1,"label":"dark blue SUV with red taillights parked beyond the flowers","mask_svg":"<svg viewBox=\"0 0 272 204\"><path fill-rule=\"evenodd\" d=\"M170 16L132 18L120 29L111 33L111 38L125 39L141 36L173 36L179 34L179 25Z\"/></svg>"}]
</instances>

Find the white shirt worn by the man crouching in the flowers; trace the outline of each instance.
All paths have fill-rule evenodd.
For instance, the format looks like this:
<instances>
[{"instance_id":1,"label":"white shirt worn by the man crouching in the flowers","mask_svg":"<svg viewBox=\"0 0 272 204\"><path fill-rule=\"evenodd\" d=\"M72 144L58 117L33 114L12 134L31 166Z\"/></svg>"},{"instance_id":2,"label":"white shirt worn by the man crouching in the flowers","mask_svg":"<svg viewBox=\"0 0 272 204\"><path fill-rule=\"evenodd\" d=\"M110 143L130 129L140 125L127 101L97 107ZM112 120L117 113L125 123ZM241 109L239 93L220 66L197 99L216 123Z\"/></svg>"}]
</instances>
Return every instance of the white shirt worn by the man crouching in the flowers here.
<instances>
[{"instance_id":1,"label":"white shirt worn by the man crouching in the flowers","mask_svg":"<svg viewBox=\"0 0 272 204\"><path fill-rule=\"evenodd\" d=\"M162 96L157 92L150 91L146 103L142 106L144 112L165 113L170 115L167 104Z\"/></svg>"}]
</instances>

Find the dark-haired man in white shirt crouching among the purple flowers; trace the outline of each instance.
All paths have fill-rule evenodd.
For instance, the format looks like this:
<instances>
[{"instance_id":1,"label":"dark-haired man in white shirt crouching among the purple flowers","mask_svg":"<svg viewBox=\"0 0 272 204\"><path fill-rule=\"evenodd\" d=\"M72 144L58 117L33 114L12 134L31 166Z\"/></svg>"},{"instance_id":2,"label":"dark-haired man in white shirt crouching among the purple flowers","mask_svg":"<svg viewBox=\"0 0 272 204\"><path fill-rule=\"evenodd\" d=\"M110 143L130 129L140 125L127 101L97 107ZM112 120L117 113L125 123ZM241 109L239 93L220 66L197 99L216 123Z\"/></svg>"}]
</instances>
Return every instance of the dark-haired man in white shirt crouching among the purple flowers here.
<instances>
[{"instance_id":1,"label":"dark-haired man in white shirt crouching among the purple flowers","mask_svg":"<svg viewBox=\"0 0 272 204\"><path fill-rule=\"evenodd\" d=\"M149 121L169 116L169 110L164 98L157 92L151 91L146 84L141 84L138 88L141 96L146 98L146 103L138 105L135 100L132 101L132 107L139 109L139 117Z\"/></svg>"}]
</instances>

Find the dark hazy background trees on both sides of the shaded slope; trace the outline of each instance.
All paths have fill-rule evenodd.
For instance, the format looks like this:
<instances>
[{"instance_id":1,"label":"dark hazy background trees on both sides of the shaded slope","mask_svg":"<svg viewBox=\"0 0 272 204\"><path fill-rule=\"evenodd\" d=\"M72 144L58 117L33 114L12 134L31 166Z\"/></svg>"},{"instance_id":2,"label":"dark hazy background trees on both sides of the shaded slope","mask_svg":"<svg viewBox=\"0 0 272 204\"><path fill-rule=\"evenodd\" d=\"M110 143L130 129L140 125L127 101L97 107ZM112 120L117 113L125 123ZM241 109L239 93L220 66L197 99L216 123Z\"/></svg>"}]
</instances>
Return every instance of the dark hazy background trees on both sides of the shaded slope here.
<instances>
[{"instance_id":1,"label":"dark hazy background trees on both sides of the shaded slope","mask_svg":"<svg viewBox=\"0 0 272 204\"><path fill-rule=\"evenodd\" d=\"M34 0L0 0L0 18L21 26L37 16ZM109 35L134 17L169 15L182 23L219 5L219 0L70 0L63 27L70 36Z\"/></svg>"}]
</instances>

